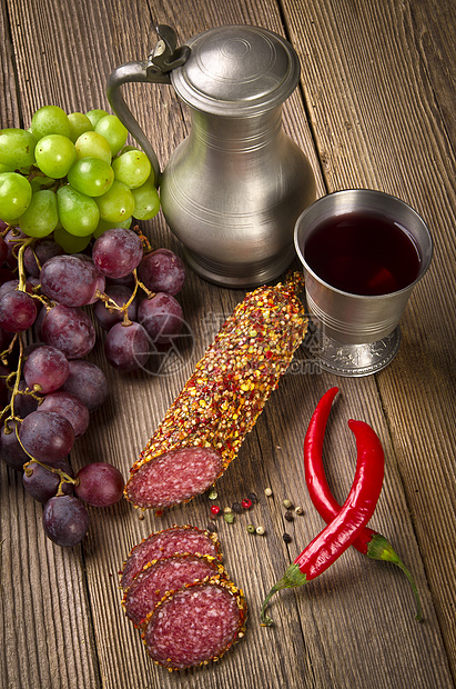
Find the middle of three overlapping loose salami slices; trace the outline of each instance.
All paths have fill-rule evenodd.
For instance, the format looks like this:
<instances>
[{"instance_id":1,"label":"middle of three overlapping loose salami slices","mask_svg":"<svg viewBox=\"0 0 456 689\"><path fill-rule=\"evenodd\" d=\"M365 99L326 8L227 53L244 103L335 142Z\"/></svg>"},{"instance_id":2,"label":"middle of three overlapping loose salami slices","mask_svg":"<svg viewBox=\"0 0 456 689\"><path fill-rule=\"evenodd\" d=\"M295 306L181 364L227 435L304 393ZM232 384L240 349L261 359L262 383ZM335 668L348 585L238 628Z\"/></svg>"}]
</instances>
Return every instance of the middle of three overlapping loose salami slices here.
<instances>
[{"instance_id":1,"label":"middle of three overlapping loose salami slices","mask_svg":"<svg viewBox=\"0 0 456 689\"><path fill-rule=\"evenodd\" d=\"M140 627L165 593L217 572L223 575L223 566L207 556L184 555L155 560L136 575L125 591L122 602L126 617Z\"/></svg>"}]
</instances>

